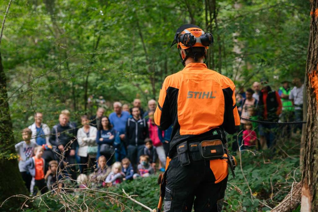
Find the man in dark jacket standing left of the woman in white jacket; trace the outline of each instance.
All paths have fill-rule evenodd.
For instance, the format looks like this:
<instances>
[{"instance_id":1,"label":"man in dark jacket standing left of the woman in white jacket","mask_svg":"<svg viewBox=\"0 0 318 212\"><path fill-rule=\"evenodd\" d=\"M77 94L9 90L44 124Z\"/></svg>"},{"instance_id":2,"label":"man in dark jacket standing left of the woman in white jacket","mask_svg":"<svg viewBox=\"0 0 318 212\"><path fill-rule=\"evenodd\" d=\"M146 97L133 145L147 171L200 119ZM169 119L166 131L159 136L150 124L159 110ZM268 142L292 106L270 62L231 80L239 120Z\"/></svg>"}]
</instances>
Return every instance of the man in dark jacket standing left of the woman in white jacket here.
<instances>
[{"instance_id":1,"label":"man in dark jacket standing left of the woman in white jacket","mask_svg":"<svg viewBox=\"0 0 318 212\"><path fill-rule=\"evenodd\" d=\"M60 114L59 124L53 126L50 136L50 143L57 147L57 160L66 161L69 165L75 163L75 147L73 141L76 139L76 137L73 132L74 129L68 124L67 115ZM63 169L63 167L63 163L61 163L61 169ZM68 170L68 174L71 174L72 178L75 180L76 173L74 168L75 167L70 168Z\"/></svg>"}]
</instances>

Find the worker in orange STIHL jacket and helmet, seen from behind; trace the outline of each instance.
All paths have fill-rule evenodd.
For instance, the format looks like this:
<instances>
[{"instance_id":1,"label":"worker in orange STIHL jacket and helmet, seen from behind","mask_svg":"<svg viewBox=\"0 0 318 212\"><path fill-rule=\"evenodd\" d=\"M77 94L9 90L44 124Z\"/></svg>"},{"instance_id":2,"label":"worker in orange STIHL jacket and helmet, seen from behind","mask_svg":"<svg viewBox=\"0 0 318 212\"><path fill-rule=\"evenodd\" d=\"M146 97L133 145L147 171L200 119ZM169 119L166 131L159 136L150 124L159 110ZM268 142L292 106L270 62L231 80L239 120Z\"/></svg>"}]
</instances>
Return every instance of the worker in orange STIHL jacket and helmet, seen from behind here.
<instances>
[{"instance_id":1,"label":"worker in orange STIHL jacket and helmet, seen from behind","mask_svg":"<svg viewBox=\"0 0 318 212\"><path fill-rule=\"evenodd\" d=\"M185 67L166 77L155 112L161 130L173 125L161 188L166 212L190 212L193 204L195 211L222 210L228 155L220 150L226 148L224 130L235 133L240 120L234 83L204 64L212 43L212 35L193 24L178 28L172 43ZM209 151L201 154L205 147Z\"/></svg>"}]
</instances>

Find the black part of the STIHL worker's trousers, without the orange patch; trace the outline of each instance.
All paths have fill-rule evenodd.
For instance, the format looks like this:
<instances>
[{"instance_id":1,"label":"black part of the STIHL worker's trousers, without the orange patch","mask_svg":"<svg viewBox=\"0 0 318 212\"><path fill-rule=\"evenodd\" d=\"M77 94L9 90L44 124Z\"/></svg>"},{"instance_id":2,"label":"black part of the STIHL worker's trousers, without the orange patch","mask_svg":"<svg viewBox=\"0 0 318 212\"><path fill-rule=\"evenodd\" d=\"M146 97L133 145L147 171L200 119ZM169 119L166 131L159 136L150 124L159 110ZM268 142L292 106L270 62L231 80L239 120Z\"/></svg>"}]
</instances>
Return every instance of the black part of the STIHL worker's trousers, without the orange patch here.
<instances>
[{"instance_id":1,"label":"black part of the STIHL worker's trousers, without the orange patch","mask_svg":"<svg viewBox=\"0 0 318 212\"><path fill-rule=\"evenodd\" d=\"M190 212L193 203L196 212L222 210L227 176L215 183L209 161L193 161L190 158L190 164L182 167L176 157L169 163L166 179L165 212Z\"/></svg>"}]
</instances>

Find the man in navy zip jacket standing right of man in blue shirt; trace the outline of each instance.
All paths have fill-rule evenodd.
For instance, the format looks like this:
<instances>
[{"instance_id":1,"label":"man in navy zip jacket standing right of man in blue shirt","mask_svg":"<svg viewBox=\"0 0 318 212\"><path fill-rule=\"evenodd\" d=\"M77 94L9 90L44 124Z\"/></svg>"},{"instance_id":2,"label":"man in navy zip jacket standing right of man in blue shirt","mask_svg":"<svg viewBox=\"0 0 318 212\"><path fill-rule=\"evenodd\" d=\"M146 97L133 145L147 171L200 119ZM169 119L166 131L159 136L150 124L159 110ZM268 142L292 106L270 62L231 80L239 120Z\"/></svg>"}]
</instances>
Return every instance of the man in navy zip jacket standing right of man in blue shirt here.
<instances>
[{"instance_id":1,"label":"man in navy zip jacket standing right of man in blue shirt","mask_svg":"<svg viewBox=\"0 0 318 212\"><path fill-rule=\"evenodd\" d=\"M146 120L140 118L139 107L133 107L131 111L133 118L127 121L125 140L128 158L135 168L142 154L145 138L149 137L149 131Z\"/></svg>"}]
</instances>

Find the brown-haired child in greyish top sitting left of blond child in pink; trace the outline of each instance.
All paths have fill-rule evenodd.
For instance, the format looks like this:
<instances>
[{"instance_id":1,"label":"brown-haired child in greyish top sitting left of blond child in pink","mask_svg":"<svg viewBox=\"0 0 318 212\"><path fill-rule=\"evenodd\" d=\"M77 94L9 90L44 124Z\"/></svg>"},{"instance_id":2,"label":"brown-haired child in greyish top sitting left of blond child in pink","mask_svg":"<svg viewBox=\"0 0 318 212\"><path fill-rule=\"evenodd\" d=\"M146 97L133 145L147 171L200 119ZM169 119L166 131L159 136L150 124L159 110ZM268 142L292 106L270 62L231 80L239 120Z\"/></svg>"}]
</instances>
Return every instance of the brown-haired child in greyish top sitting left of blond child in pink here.
<instances>
[{"instance_id":1,"label":"brown-haired child in greyish top sitting left of blond child in pink","mask_svg":"<svg viewBox=\"0 0 318 212\"><path fill-rule=\"evenodd\" d=\"M90 179L92 180L93 183L97 183L97 184L102 184L107 175L111 172L111 168L107 166L106 164L106 157L104 155L101 155L98 158L98 168L95 169L95 172L90 174Z\"/></svg>"}]
</instances>

